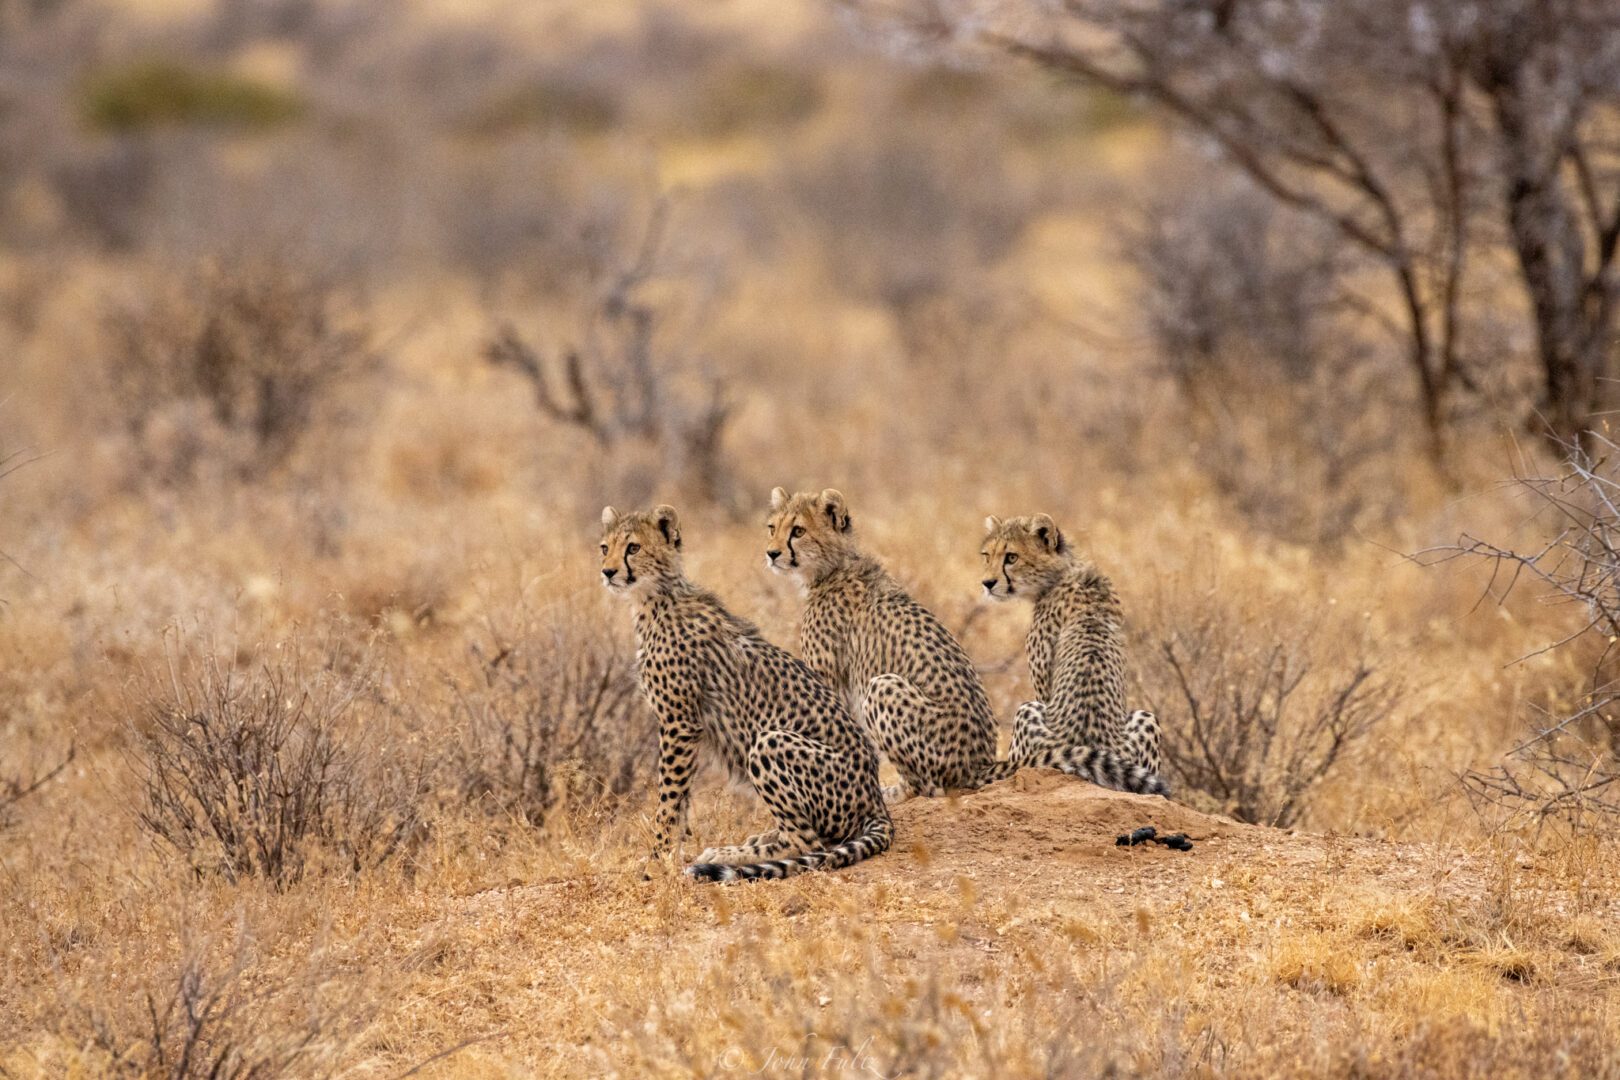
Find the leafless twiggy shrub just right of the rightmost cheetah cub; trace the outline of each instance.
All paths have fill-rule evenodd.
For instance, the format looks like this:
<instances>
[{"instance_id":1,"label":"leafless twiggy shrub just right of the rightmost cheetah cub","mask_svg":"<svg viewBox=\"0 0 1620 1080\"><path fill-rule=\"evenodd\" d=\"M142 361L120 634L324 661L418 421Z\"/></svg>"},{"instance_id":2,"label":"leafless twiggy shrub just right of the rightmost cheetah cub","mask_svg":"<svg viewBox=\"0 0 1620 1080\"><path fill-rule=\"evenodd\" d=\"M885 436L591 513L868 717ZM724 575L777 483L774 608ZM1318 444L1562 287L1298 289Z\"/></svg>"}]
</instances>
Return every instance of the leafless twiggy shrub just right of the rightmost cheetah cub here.
<instances>
[{"instance_id":1,"label":"leafless twiggy shrub just right of the rightmost cheetah cub","mask_svg":"<svg viewBox=\"0 0 1620 1080\"><path fill-rule=\"evenodd\" d=\"M1239 821L1290 827L1401 698L1366 656L1324 664L1311 627L1243 627L1218 607L1145 635L1144 696L1173 787Z\"/></svg>"}]
</instances>

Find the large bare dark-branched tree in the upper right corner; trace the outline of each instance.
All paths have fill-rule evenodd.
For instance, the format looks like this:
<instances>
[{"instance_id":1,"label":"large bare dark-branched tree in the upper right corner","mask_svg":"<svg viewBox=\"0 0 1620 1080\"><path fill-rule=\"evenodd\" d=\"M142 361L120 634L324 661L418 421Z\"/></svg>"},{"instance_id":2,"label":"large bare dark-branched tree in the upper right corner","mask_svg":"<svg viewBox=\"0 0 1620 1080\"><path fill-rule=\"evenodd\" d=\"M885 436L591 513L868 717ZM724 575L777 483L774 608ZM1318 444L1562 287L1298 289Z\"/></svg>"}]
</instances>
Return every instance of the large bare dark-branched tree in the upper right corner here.
<instances>
[{"instance_id":1,"label":"large bare dark-branched tree in the upper right corner","mask_svg":"<svg viewBox=\"0 0 1620 1080\"><path fill-rule=\"evenodd\" d=\"M1435 455L1473 275L1511 257L1555 440L1605 405L1620 293L1612 0L844 0L885 32L1150 102L1382 269Z\"/></svg>"}]
</instances>

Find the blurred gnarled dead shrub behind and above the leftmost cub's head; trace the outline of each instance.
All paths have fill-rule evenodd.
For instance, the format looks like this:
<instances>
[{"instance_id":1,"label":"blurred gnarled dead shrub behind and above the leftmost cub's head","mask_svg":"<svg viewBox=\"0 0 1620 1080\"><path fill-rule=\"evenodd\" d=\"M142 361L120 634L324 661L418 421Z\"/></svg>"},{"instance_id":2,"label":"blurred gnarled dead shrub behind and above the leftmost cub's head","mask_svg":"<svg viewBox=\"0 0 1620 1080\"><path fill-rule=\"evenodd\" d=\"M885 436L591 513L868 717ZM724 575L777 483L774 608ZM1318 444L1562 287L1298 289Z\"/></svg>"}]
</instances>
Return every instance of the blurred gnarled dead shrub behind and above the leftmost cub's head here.
<instances>
[{"instance_id":1,"label":"blurred gnarled dead shrub behind and above the leftmost cub's head","mask_svg":"<svg viewBox=\"0 0 1620 1080\"><path fill-rule=\"evenodd\" d=\"M687 495L724 502L731 473L723 442L734 405L718 381L693 387L682 364L658 355L659 309L640 291L656 274L666 220L659 202L633 261L590 300L583 340L546 353L509 324L484 358L523 376L541 415L588 434L598 450L653 450Z\"/></svg>"}]
</instances>

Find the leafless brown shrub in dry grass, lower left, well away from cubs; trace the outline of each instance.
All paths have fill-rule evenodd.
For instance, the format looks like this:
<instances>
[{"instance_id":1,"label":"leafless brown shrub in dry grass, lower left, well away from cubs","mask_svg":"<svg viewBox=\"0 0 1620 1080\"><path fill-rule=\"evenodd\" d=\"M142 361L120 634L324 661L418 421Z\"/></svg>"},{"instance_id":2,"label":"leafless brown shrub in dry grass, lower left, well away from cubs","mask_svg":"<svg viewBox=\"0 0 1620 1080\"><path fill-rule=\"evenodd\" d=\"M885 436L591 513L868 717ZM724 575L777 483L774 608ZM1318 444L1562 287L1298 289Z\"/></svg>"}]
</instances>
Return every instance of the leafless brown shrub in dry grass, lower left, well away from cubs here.
<instances>
[{"instance_id":1,"label":"leafless brown shrub in dry grass, lower left, well away from cubs","mask_svg":"<svg viewBox=\"0 0 1620 1080\"><path fill-rule=\"evenodd\" d=\"M285 887L316 857L382 865L421 837L428 784L353 730L373 693L368 669L309 670L292 646L246 670L172 659L133 704L141 824L199 876Z\"/></svg>"}]
</instances>

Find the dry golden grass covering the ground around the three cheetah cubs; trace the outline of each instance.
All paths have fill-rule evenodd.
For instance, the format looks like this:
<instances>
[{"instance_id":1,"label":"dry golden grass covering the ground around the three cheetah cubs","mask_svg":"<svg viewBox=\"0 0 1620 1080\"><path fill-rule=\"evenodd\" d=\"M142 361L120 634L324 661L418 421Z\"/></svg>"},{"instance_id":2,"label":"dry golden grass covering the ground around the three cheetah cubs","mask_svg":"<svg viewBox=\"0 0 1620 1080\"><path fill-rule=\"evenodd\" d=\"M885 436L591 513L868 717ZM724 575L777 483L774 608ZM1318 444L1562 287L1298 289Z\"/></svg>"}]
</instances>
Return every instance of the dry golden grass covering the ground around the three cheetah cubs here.
<instances>
[{"instance_id":1,"label":"dry golden grass covering the ground around the three cheetah cubs","mask_svg":"<svg viewBox=\"0 0 1620 1080\"><path fill-rule=\"evenodd\" d=\"M774 8L705 18L770 49L828 32ZM570 34L586 32L580 11ZM778 157L815 159L912 78L873 58L823 74L792 146L654 131L651 154L695 202ZM737 402L731 494L708 505L645 449L604 453L546 423L481 359L505 317L570 340L577 304L538 287L514 300L433 257L339 295L386 361L267 474L133 474L123 403L84 358L107 355L109 298L178 279L144 254L53 253L57 287L3 342L0 452L49 455L0 483L15 559L0 772L76 756L0 827L0 1075L191 1075L173 1057L188 1031L228 1075L1620 1075L1614 842L1505 829L1456 784L1500 758L1526 708L1578 693L1578 657L1513 662L1567 612L1476 606L1486 575L1398 554L1463 528L1533 534L1495 486L1510 447L1471 429L1448 479L1392 455L1398 510L1336 544L1239 512L1145 356L1106 240L1157 141L1128 126L1009 152L1008 183L1061 167L1095 189L1037 207L974 267L972 300L998 301L983 319L961 293L852 295L802 220L771 254L734 254L724 288L659 283L679 351L714 358ZM585 142L586 175L645 165ZM0 280L21 295L37 267L8 261ZM1029 695L1025 614L978 602L978 523L1032 510L1108 570L1142 640L1209 612L1238 635L1309 623L1324 670L1366 649L1406 690L1290 832L1025 776L901 808L896 848L849 873L695 889L640 881L645 772L601 790L606 750L562 756L539 824L468 797L447 751L512 670L504 649L546 680L557 640L627 648L627 614L595 585L603 504L680 504L690 575L792 640L797 599L760 559L774 484L849 495L865 544L961 633L1001 716ZM339 837L284 887L191 873L138 819L133 732L154 674L178 654L248 675L332 638L376 667L345 737L371 764L428 763L426 829L358 873ZM517 683L501 708L523 699ZM625 746L651 724L614 722ZM706 777L697 842L758 818ZM1113 845L1145 821L1197 847Z\"/></svg>"}]
</instances>

